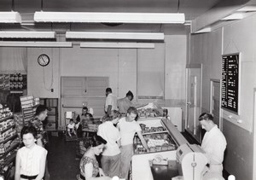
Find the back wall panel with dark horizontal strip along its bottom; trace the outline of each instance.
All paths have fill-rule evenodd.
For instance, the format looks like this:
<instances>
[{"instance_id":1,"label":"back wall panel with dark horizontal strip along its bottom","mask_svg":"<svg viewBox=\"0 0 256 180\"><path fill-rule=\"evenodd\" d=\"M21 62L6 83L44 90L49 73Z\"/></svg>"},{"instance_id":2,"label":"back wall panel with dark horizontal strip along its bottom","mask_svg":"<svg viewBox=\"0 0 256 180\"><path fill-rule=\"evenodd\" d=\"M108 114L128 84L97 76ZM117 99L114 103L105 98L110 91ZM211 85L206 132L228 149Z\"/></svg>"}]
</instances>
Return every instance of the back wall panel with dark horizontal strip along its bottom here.
<instances>
[{"instance_id":1,"label":"back wall panel with dark horizontal strip along its bottom","mask_svg":"<svg viewBox=\"0 0 256 180\"><path fill-rule=\"evenodd\" d=\"M164 98L165 44L154 44L154 49L137 50L137 96L139 101ZM143 96L148 96L145 98Z\"/></svg>"}]
</instances>

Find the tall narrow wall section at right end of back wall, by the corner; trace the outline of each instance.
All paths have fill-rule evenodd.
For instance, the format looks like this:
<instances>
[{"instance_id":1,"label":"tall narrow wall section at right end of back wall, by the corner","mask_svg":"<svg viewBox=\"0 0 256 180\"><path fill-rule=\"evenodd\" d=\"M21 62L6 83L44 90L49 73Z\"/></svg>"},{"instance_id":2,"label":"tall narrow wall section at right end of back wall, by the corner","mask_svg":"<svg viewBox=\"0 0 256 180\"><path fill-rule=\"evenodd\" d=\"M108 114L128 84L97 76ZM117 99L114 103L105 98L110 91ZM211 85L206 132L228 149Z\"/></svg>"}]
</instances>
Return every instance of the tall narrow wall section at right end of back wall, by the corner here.
<instances>
[{"instance_id":1,"label":"tall narrow wall section at right end of back wall, by the corner","mask_svg":"<svg viewBox=\"0 0 256 180\"><path fill-rule=\"evenodd\" d=\"M166 36L165 98L166 105L177 106L185 101L187 36Z\"/></svg>"}]
</instances>

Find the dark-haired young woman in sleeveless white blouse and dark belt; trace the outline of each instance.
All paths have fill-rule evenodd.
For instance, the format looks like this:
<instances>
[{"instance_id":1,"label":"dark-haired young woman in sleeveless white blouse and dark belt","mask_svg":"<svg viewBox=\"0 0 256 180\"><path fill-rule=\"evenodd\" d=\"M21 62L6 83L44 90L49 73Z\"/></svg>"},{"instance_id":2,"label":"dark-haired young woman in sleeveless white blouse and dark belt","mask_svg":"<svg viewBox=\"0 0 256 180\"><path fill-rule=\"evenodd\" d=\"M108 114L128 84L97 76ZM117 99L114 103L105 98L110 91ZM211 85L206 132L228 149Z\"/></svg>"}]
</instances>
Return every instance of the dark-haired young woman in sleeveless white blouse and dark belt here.
<instances>
[{"instance_id":1,"label":"dark-haired young woman in sleeveless white blouse and dark belt","mask_svg":"<svg viewBox=\"0 0 256 180\"><path fill-rule=\"evenodd\" d=\"M24 126L20 136L25 146L16 155L15 180L42 180L47 150L36 144L37 130L34 126Z\"/></svg>"}]
</instances>

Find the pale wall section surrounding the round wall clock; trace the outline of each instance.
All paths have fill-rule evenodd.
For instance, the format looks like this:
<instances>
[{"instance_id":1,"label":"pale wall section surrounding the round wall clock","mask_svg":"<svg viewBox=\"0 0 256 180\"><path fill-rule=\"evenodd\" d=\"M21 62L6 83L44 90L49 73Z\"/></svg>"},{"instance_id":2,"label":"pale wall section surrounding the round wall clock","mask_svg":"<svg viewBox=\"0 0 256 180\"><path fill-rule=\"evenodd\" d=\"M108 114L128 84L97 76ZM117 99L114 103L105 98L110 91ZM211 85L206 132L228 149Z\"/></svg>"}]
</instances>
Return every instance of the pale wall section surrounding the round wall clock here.
<instances>
[{"instance_id":1,"label":"pale wall section surrounding the round wall clock","mask_svg":"<svg viewBox=\"0 0 256 180\"><path fill-rule=\"evenodd\" d=\"M60 49L28 48L27 49L27 94L42 98L60 97ZM49 55L49 65L40 67L38 55ZM52 85L51 85L52 84ZM54 91L51 92L50 89Z\"/></svg>"}]
</instances>

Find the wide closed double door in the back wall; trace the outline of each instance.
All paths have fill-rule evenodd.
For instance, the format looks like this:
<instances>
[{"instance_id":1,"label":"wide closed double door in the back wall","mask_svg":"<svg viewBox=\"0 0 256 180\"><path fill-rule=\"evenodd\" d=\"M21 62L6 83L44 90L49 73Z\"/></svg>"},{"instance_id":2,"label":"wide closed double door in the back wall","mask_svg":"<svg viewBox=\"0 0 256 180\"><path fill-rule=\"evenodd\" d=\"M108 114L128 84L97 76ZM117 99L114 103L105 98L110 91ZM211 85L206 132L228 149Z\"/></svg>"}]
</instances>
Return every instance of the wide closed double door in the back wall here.
<instances>
[{"instance_id":1,"label":"wide closed double door in the back wall","mask_svg":"<svg viewBox=\"0 0 256 180\"><path fill-rule=\"evenodd\" d=\"M108 77L61 77L61 125L65 112L80 114L83 104L93 108L95 118L102 117L107 87Z\"/></svg>"}]
</instances>

